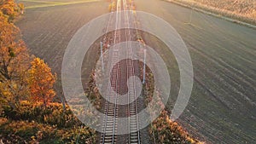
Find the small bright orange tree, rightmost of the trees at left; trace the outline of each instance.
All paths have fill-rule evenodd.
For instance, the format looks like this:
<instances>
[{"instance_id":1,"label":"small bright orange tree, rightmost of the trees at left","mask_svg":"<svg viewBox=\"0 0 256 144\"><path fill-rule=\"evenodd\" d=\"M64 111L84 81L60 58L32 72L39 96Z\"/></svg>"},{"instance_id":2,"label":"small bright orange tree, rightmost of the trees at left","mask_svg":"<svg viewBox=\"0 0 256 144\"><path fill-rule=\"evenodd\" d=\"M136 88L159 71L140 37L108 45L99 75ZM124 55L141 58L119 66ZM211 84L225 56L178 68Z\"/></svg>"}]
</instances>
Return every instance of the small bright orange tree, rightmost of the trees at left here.
<instances>
[{"instance_id":1,"label":"small bright orange tree, rightmost of the trees at left","mask_svg":"<svg viewBox=\"0 0 256 144\"><path fill-rule=\"evenodd\" d=\"M53 85L55 84L56 75L52 74L49 66L44 60L35 58L31 62L32 67L29 69L28 84L32 101L40 101L46 107L55 96Z\"/></svg>"}]
</instances>

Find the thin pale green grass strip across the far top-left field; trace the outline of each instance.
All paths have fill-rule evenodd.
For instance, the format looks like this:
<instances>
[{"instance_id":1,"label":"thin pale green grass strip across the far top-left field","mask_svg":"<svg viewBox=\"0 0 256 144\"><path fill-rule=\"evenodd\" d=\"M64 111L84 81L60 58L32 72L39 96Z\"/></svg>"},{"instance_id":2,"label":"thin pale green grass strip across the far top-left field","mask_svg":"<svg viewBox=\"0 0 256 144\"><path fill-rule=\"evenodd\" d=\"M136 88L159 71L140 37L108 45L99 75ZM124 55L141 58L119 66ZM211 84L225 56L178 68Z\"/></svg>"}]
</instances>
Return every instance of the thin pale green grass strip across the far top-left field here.
<instances>
[{"instance_id":1,"label":"thin pale green grass strip across the far top-left field","mask_svg":"<svg viewBox=\"0 0 256 144\"><path fill-rule=\"evenodd\" d=\"M25 0L25 1L32 2L31 0ZM26 7L25 9L37 9L37 8L55 7L55 6L63 6L63 5L78 4L78 3L92 3L92 2L99 2L99 1L101 0L86 0L86 1L77 1L77 2L68 2L68 3L40 4L40 5L29 6L29 7ZM38 1L38 3L41 3L41 2Z\"/></svg>"}]
</instances>

